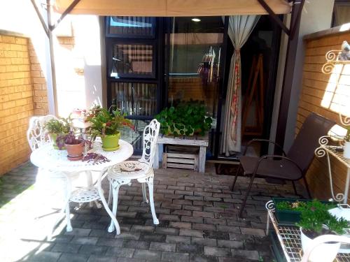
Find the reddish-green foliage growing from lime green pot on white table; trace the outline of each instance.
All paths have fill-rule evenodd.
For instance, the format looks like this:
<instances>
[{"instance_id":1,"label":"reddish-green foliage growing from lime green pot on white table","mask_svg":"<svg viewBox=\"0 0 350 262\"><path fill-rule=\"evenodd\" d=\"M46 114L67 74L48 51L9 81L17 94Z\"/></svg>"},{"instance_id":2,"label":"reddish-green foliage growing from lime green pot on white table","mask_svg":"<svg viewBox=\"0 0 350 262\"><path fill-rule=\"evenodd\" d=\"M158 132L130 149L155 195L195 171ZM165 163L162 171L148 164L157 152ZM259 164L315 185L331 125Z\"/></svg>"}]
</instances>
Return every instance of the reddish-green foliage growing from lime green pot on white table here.
<instances>
[{"instance_id":1,"label":"reddish-green foliage growing from lime green pot on white table","mask_svg":"<svg viewBox=\"0 0 350 262\"><path fill-rule=\"evenodd\" d=\"M93 137L114 135L118 133L121 126L129 126L134 129L132 122L129 119L125 119L120 110L109 112L104 108L99 108L99 110L95 110L88 115L87 121L92 123L90 129Z\"/></svg>"}]
</instances>

